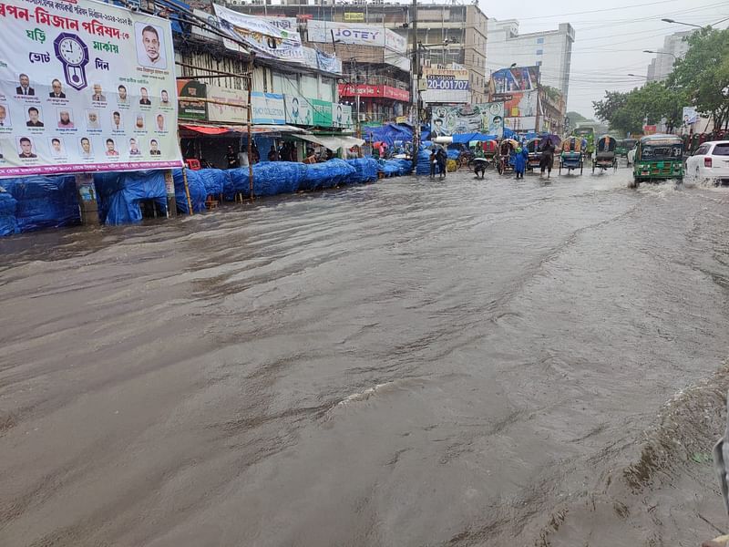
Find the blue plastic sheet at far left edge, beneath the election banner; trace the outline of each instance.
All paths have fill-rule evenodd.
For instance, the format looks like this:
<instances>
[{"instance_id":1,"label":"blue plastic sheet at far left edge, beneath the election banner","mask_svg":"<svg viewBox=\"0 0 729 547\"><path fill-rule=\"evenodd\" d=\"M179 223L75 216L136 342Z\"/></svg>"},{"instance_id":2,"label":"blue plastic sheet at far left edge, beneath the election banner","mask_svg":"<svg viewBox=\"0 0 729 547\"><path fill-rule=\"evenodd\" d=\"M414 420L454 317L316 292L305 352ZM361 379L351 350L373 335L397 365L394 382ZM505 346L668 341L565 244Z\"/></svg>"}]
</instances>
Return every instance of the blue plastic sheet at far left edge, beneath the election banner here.
<instances>
[{"instance_id":1,"label":"blue plastic sheet at far left edge, beneath the election banner","mask_svg":"<svg viewBox=\"0 0 729 547\"><path fill-rule=\"evenodd\" d=\"M20 232L80 221L73 175L5 179L0 185L17 201L15 219Z\"/></svg>"}]
</instances>

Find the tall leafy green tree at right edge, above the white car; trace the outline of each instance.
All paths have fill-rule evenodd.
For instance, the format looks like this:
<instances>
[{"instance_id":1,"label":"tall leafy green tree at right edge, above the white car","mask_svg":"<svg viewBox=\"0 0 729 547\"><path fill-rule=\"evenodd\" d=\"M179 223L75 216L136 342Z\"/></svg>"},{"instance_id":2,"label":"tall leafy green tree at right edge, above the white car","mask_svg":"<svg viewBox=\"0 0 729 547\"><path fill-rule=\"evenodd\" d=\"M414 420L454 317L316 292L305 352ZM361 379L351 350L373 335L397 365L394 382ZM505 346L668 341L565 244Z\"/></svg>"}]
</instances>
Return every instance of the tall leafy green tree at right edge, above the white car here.
<instances>
[{"instance_id":1,"label":"tall leafy green tree at right edge, above the white car","mask_svg":"<svg viewBox=\"0 0 729 547\"><path fill-rule=\"evenodd\" d=\"M682 93L686 105L714 119L715 128L729 125L729 29L703 28L686 41L689 49L676 60L669 88Z\"/></svg>"}]
</instances>

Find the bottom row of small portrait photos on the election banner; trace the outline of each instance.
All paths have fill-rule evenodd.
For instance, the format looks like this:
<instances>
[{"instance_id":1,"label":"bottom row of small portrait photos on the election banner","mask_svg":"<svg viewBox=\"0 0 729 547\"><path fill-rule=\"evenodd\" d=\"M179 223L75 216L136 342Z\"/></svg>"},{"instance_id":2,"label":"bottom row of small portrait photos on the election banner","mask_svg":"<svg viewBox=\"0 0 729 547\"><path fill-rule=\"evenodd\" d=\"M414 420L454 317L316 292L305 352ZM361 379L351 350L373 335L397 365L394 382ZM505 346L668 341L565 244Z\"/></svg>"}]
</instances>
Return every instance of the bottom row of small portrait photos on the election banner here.
<instances>
[{"instance_id":1,"label":"bottom row of small portrait photos on the election banner","mask_svg":"<svg viewBox=\"0 0 729 547\"><path fill-rule=\"evenodd\" d=\"M68 147L76 150L69 150ZM81 160L118 159L127 157L129 160L144 157L154 158L161 156L159 141L157 139L111 139L81 137L80 139L65 137L48 137L38 139L34 137L19 137L15 143L5 140L0 150L0 160L9 158L10 153L16 153L21 160L36 160L39 156L50 157L56 160L67 160L70 157L81 157ZM15 151L13 151L15 148Z\"/></svg>"}]
</instances>

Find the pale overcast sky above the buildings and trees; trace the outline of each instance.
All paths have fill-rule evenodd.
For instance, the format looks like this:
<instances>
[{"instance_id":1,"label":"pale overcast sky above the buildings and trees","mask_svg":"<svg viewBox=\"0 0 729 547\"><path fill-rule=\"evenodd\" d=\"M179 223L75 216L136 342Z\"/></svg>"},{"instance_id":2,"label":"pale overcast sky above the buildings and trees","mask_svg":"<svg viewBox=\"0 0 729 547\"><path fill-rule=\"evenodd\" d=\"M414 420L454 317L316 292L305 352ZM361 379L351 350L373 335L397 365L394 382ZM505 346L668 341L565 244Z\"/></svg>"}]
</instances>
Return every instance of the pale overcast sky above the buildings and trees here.
<instances>
[{"instance_id":1,"label":"pale overcast sky above the buildings and trees","mask_svg":"<svg viewBox=\"0 0 729 547\"><path fill-rule=\"evenodd\" d=\"M480 0L479 5L488 17L519 19L522 34L556 30L560 23L574 26L568 109L588 118L593 116L592 101L602 98L605 89L626 91L644 83L654 56L642 53L643 49L658 49L664 36L691 29L664 23L662 17L694 25L709 25L729 17L729 0ZM728 24L718 27L726 28Z\"/></svg>"}]
</instances>

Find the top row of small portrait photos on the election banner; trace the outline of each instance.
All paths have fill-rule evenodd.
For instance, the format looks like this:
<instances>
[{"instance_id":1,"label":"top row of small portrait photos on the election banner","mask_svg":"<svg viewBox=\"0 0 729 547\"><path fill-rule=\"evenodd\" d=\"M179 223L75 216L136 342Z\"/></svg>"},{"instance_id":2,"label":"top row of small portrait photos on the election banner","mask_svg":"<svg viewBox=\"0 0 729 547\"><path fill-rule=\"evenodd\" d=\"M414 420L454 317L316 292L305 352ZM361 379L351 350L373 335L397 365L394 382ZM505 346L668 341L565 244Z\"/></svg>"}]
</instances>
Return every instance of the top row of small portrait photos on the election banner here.
<instances>
[{"instance_id":1,"label":"top row of small portrait photos on the election banner","mask_svg":"<svg viewBox=\"0 0 729 547\"><path fill-rule=\"evenodd\" d=\"M77 91L75 88L64 87L61 80L54 78L50 82L50 86L43 84L36 84L31 82L30 77L27 74L20 74L17 78L18 86L15 88L15 96L24 97L28 100L35 100L40 97L47 97L54 99L54 101L67 100L69 96L76 97L82 91ZM36 89L37 88L37 89ZM137 88L131 89L131 91L137 91ZM95 83L84 89L83 92L89 93L91 101L94 103L108 103L108 93L101 86L101 84ZM139 93L133 95L129 93L129 89L124 84L120 84L117 88L116 93L111 93L111 101L116 102L118 105L128 106L129 104L139 103L143 107L159 106L159 108L172 108L172 103L169 100L169 91L162 89L159 92L159 97L151 96L149 89L145 86L139 86Z\"/></svg>"}]
</instances>

